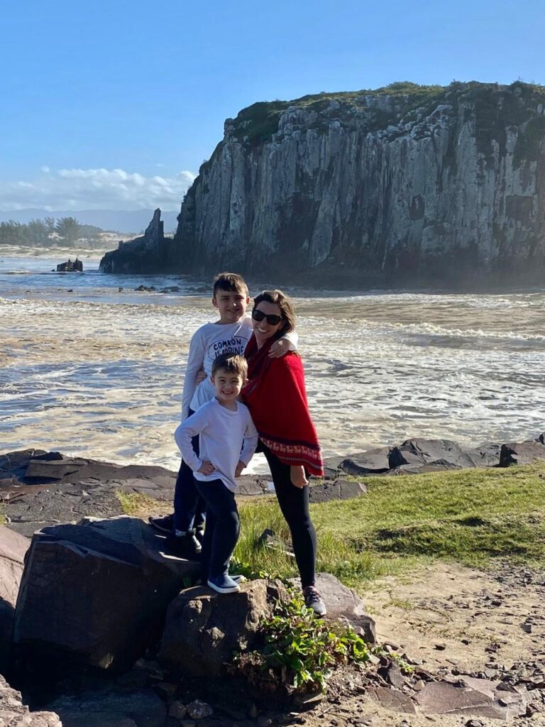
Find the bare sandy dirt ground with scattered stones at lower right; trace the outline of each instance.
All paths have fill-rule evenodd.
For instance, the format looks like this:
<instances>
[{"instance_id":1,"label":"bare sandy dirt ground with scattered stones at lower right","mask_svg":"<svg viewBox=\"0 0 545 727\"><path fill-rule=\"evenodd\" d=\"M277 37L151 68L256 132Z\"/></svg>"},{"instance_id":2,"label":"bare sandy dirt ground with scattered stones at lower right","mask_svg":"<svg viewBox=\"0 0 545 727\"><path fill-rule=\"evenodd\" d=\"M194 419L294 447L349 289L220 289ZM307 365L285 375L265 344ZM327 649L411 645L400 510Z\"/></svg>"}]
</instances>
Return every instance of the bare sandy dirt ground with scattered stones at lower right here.
<instances>
[{"instance_id":1,"label":"bare sandy dirt ground with scattered stones at lower right","mask_svg":"<svg viewBox=\"0 0 545 727\"><path fill-rule=\"evenodd\" d=\"M364 600L376 619L378 640L406 654L416 671L429 672L448 688L472 678L527 687L527 714L504 720L483 716L483 709L479 713L471 707L463 713L424 714L424 709L411 707L417 696L415 686L419 686L413 678L411 684L389 694L380 686L367 688L366 694L349 694L350 685L339 685L338 694L312 712L293 715L294 723L308 727L545 726L544 573L506 566L483 572L437 563L405 582L378 582ZM374 691L378 702L370 696Z\"/></svg>"}]
</instances>

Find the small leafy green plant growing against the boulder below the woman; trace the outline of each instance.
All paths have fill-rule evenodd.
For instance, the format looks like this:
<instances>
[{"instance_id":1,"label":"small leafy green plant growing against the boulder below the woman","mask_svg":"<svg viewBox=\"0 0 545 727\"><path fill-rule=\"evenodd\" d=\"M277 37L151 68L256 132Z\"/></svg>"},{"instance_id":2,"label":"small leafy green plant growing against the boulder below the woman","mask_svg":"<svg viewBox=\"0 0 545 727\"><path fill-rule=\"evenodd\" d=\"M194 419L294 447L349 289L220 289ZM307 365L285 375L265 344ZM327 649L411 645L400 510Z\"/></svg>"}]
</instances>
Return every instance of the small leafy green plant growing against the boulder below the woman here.
<instances>
[{"instance_id":1,"label":"small leafy green plant growing against the boulder below the woman","mask_svg":"<svg viewBox=\"0 0 545 727\"><path fill-rule=\"evenodd\" d=\"M326 691L334 669L371 658L367 644L352 628L316 618L299 595L277 604L275 614L262 621L262 633L260 651L235 658L235 670L261 688Z\"/></svg>"}]
</instances>

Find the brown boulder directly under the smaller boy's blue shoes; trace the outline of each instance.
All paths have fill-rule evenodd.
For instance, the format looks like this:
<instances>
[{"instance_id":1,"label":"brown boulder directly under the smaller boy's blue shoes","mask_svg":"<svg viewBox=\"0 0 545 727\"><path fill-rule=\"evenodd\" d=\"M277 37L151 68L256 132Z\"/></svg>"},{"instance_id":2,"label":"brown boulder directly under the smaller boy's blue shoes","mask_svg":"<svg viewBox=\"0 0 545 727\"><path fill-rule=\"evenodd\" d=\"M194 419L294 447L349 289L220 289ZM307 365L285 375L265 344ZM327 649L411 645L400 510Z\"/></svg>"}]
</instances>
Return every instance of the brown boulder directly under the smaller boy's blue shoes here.
<instances>
[{"instance_id":1,"label":"brown boulder directly under the smaller boy's blue shoes","mask_svg":"<svg viewBox=\"0 0 545 727\"><path fill-rule=\"evenodd\" d=\"M182 591L166 615L160 661L179 675L222 674L233 652L256 646L259 623L273 614L278 600L288 601L289 595L277 580L249 581L229 595L203 587Z\"/></svg>"}]
</instances>

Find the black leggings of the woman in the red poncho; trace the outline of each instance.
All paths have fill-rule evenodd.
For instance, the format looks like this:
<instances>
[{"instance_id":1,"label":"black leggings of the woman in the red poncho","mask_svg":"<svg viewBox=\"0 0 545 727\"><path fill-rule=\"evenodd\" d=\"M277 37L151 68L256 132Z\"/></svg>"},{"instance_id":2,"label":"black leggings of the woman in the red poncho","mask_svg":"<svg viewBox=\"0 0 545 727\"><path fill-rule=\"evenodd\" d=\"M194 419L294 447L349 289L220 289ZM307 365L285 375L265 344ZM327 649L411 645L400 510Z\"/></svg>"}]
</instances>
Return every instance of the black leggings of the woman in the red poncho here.
<instances>
[{"instance_id":1,"label":"black leggings of the woman in the red poncho","mask_svg":"<svg viewBox=\"0 0 545 727\"><path fill-rule=\"evenodd\" d=\"M316 531L308 508L308 486L300 488L292 484L290 466L280 462L263 443L261 447L275 483L278 505L291 531L301 585L303 588L313 586L316 576Z\"/></svg>"}]
</instances>

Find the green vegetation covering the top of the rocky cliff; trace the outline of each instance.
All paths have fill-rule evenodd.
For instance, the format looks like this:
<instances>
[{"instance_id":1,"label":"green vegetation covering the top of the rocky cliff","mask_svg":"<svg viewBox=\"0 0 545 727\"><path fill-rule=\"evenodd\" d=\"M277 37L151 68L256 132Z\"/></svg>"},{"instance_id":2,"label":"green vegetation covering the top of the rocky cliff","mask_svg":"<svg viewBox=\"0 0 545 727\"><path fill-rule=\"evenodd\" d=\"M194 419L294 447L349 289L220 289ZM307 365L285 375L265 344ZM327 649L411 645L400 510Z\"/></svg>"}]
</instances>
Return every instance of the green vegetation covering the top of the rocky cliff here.
<instances>
[{"instance_id":1,"label":"green vegetation covering the top of the rocky cliff","mask_svg":"<svg viewBox=\"0 0 545 727\"><path fill-rule=\"evenodd\" d=\"M388 97L391 110L387 111L371 100L379 101ZM398 123L411 112L423 109L431 113L440 103L447 103L465 97L475 105L477 126L483 132L495 132L501 124L519 125L528 121L536 113L538 103L545 104L545 87L537 84L525 84L515 81L509 86L485 84L478 81L462 83L453 81L449 86L421 86L411 81L398 81L379 89L363 89L360 91L344 91L320 93L302 96L291 101L263 101L243 108L233 121L233 134L245 142L256 145L267 140L278 132L280 115L288 108L306 109L307 111L324 111L331 102L339 102L344 108L368 107L371 116L368 119L369 130L385 128L388 124ZM498 101L502 98L501 102ZM371 101L371 106L369 102ZM498 109L500 111L498 112ZM494 138L498 134L492 134Z\"/></svg>"}]
</instances>

